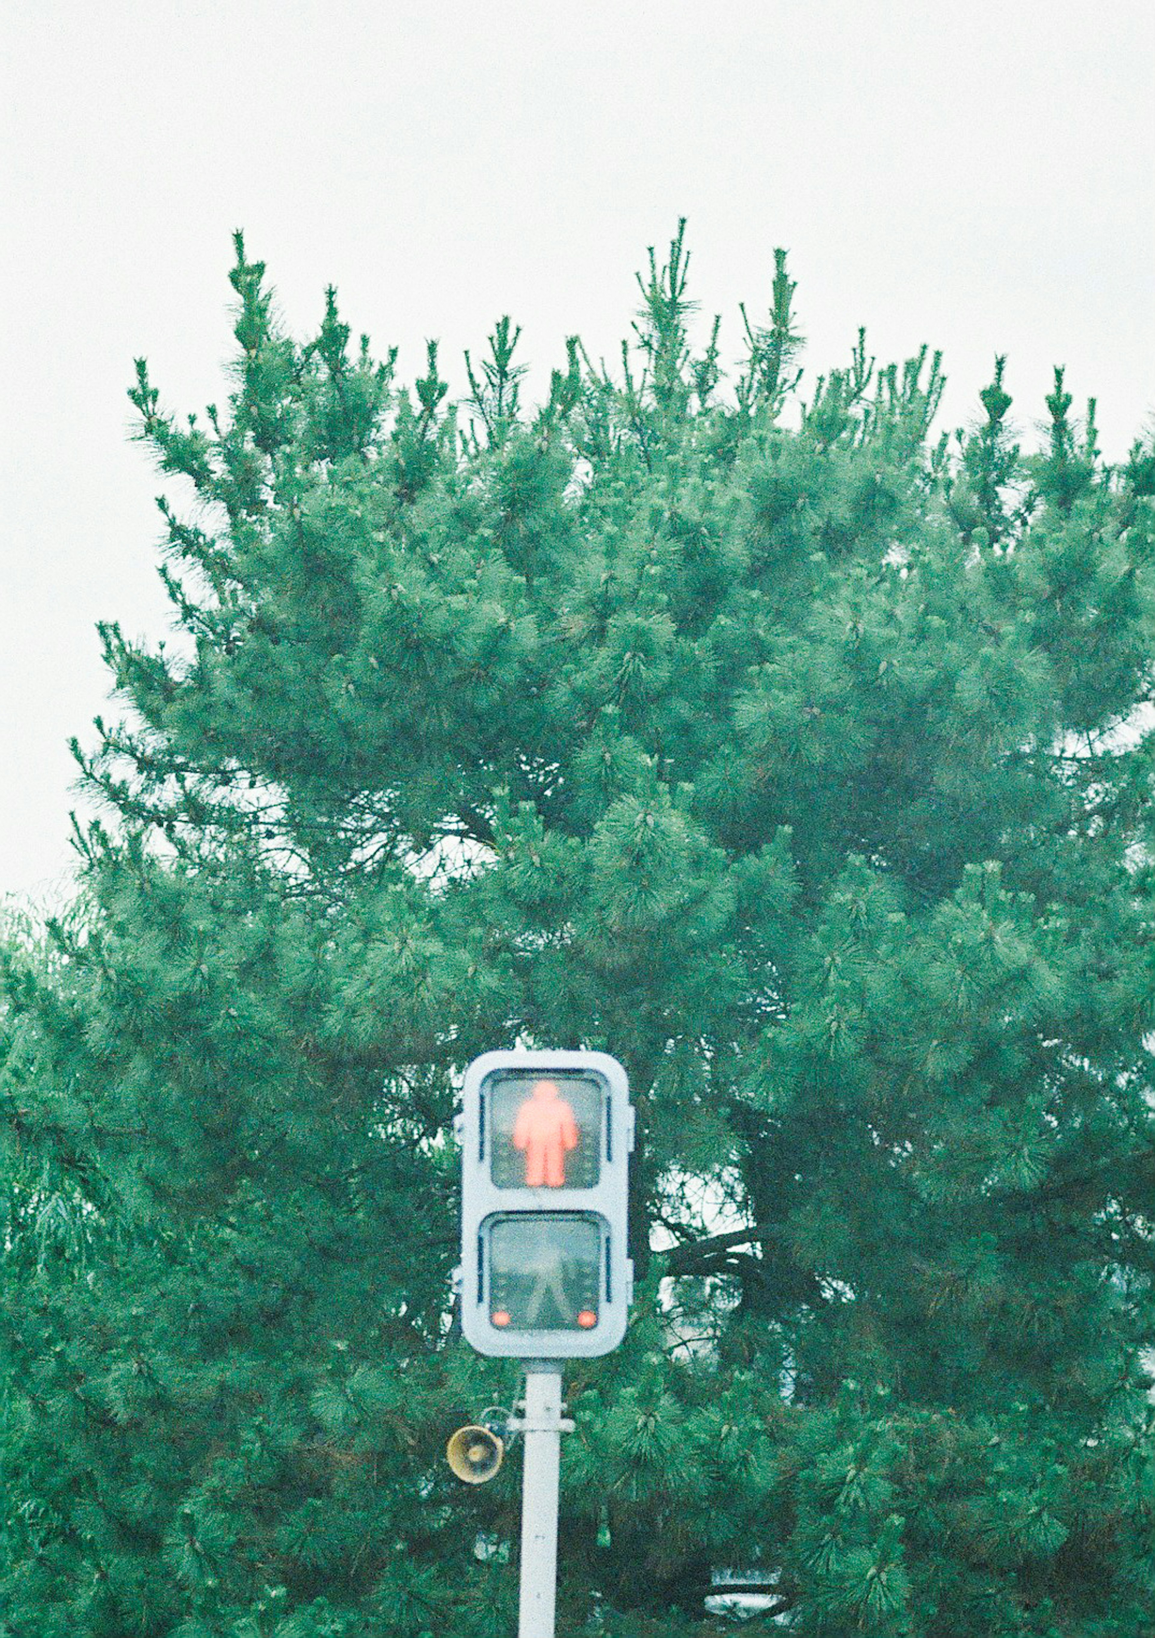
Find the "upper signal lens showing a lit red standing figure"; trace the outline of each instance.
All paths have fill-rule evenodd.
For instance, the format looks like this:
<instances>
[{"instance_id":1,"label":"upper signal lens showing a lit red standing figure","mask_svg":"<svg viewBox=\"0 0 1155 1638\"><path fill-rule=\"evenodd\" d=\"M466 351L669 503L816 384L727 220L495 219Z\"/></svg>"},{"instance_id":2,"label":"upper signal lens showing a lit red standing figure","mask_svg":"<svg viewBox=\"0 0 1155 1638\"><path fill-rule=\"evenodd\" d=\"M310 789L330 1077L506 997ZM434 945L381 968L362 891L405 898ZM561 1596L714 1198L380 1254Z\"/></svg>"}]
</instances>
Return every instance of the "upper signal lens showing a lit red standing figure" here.
<instances>
[{"instance_id":1,"label":"upper signal lens showing a lit red standing figure","mask_svg":"<svg viewBox=\"0 0 1155 1638\"><path fill-rule=\"evenodd\" d=\"M498 1071L482 1097L482 1140L498 1189L596 1186L606 1152L601 1076Z\"/></svg>"}]
</instances>

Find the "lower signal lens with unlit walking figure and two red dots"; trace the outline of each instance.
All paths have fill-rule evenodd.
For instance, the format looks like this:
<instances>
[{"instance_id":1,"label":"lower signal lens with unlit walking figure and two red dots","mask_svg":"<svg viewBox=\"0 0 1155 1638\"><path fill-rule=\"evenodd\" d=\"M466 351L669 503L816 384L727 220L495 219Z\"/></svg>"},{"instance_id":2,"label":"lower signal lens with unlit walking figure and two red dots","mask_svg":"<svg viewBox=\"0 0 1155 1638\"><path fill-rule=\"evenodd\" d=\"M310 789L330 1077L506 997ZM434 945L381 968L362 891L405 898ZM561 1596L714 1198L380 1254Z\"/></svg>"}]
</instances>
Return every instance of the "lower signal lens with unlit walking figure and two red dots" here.
<instances>
[{"instance_id":1,"label":"lower signal lens with unlit walking figure and two red dots","mask_svg":"<svg viewBox=\"0 0 1155 1638\"><path fill-rule=\"evenodd\" d=\"M601 1217L511 1212L490 1219L487 1242L490 1325L511 1332L596 1327L608 1247Z\"/></svg>"}]
</instances>

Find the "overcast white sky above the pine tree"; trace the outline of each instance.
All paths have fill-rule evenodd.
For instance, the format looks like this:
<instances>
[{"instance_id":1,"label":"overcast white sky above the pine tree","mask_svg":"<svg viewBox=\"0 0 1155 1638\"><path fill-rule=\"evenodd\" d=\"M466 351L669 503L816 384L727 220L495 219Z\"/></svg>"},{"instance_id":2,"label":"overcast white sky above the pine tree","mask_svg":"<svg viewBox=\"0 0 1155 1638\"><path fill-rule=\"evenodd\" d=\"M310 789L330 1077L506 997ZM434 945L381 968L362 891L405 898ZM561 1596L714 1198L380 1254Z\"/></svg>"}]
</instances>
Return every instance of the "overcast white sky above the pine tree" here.
<instances>
[{"instance_id":1,"label":"overcast white sky above the pine tree","mask_svg":"<svg viewBox=\"0 0 1155 1638\"><path fill-rule=\"evenodd\" d=\"M59 891L93 631L162 636L161 485L128 441L223 400L229 234L297 334L462 347L501 313L531 383L616 354L688 218L691 293L765 310L790 251L808 375L857 334L942 347L942 426L996 352L1027 441L1052 364L1121 459L1155 410L1152 0L7 0L0 894Z\"/></svg>"}]
</instances>

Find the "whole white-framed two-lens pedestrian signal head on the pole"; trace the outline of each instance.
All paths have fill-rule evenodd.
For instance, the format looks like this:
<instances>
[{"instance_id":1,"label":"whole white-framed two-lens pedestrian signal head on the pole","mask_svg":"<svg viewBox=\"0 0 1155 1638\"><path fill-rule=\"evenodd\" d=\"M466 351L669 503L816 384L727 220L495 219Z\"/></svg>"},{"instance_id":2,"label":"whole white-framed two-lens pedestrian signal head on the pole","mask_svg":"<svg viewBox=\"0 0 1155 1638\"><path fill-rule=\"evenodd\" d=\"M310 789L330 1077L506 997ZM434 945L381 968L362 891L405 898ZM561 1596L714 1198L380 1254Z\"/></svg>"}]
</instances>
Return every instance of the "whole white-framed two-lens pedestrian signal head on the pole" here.
<instances>
[{"instance_id":1,"label":"whole white-framed two-lens pedestrian signal head on the pole","mask_svg":"<svg viewBox=\"0 0 1155 1638\"><path fill-rule=\"evenodd\" d=\"M608 1353L626 1330L632 1109L595 1052L485 1053L465 1073L462 1330L482 1353Z\"/></svg>"}]
</instances>

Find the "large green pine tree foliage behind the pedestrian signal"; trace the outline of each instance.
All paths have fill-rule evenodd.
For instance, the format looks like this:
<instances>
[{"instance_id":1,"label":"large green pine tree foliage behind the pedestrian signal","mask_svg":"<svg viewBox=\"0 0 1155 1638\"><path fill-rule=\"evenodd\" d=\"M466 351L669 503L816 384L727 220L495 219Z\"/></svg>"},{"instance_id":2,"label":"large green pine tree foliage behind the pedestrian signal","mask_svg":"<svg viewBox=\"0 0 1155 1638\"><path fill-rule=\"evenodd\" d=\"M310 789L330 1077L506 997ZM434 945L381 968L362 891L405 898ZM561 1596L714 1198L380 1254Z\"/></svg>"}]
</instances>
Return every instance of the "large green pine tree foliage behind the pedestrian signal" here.
<instances>
[{"instance_id":1,"label":"large green pine tree foliage behind the pedestrian signal","mask_svg":"<svg viewBox=\"0 0 1155 1638\"><path fill-rule=\"evenodd\" d=\"M1155 1609L1155 446L793 282L726 395L688 256L618 373L447 400L238 236L228 408L144 364L177 640L5 958L0 1631L496 1638L516 1373L454 1332L460 1070L626 1065L639 1301L567 1378L562 1631L1137 1638Z\"/></svg>"}]
</instances>

